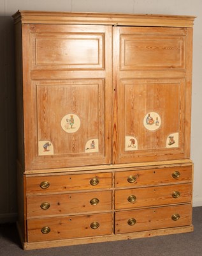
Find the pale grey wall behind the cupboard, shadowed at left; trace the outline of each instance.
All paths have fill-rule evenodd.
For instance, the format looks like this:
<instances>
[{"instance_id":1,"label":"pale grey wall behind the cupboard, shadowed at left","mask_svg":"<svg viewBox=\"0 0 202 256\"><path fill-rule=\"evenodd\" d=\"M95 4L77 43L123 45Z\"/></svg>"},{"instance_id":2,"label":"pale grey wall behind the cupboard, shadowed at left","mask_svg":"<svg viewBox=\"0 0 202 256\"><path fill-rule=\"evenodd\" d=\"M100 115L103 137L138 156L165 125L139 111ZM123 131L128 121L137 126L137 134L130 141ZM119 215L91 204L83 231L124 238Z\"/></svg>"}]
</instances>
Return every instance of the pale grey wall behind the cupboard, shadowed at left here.
<instances>
[{"instance_id":1,"label":"pale grey wall behind the cupboard, shadowed at left","mask_svg":"<svg viewBox=\"0 0 202 256\"><path fill-rule=\"evenodd\" d=\"M191 157L194 206L202 206L202 0L0 0L0 222L15 220L15 61L13 22L17 10L196 15L194 22Z\"/></svg>"}]
</instances>

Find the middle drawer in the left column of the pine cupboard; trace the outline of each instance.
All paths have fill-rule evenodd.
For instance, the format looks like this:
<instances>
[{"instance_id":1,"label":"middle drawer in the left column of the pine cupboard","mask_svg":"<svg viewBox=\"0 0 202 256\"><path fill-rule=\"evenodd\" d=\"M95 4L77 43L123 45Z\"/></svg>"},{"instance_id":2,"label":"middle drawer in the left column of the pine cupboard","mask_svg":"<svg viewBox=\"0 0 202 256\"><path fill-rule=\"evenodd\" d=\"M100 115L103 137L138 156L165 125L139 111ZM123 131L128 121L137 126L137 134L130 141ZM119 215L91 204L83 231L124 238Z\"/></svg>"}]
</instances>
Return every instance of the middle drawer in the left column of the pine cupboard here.
<instances>
[{"instance_id":1,"label":"middle drawer in the left column of the pine cupboard","mask_svg":"<svg viewBox=\"0 0 202 256\"><path fill-rule=\"evenodd\" d=\"M112 211L112 191L27 196L27 218Z\"/></svg>"}]
</instances>

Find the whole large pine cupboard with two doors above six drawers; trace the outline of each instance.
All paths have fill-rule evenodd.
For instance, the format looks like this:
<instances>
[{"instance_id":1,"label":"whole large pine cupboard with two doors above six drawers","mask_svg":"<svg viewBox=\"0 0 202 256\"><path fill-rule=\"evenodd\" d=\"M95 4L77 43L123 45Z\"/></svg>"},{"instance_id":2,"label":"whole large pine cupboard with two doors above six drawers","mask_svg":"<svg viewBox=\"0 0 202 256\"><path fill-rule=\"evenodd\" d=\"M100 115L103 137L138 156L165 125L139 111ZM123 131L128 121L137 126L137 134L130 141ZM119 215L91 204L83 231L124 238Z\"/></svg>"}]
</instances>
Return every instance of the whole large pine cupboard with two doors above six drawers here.
<instances>
[{"instance_id":1,"label":"whole large pine cupboard with two doors above six drawers","mask_svg":"<svg viewBox=\"0 0 202 256\"><path fill-rule=\"evenodd\" d=\"M192 232L195 17L13 18L23 248Z\"/></svg>"}]
</instances>

